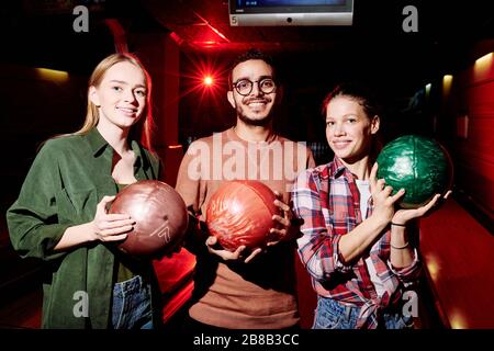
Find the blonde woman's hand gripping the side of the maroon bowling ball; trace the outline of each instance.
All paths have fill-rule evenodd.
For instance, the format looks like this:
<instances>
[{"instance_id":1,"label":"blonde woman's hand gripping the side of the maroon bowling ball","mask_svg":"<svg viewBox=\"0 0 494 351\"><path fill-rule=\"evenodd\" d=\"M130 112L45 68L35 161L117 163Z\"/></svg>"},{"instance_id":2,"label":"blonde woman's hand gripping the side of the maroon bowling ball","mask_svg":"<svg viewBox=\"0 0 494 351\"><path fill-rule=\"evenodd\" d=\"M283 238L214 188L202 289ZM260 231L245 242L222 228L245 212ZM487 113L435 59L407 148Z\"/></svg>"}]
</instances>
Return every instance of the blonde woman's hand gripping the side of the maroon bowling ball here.
<instances>
[{"instance_id":1,"label":"blonde woman's hand gripping the side of the maroon bowling ball","mask_svg":"<svg viewBox=\"0 0 494 351\"><path fill-rule=\"evenodd\" d=\"M115 196L104 196L97 206L94 219L91 222L92 239L100 241L119 241L127 237L135 225L135 220L125 214L109 214L106 205Z\"/></svg>"}]
</instances>

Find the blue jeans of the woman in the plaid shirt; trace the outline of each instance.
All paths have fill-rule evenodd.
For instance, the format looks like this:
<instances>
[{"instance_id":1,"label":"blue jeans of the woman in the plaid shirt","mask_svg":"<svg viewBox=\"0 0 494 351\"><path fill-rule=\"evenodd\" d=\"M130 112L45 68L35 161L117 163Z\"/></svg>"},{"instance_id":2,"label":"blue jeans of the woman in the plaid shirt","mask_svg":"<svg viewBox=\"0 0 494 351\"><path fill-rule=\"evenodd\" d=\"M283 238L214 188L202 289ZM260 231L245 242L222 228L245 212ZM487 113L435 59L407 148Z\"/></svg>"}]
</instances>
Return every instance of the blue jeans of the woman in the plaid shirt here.
<instances>
[{"instance_id":1,"label":"blue jeans of the woman in the plaid shirt","mask_svg":"<svg viewBox=\"0 0 494 351\"><path fill-rule=\"evenodd\" d=\"M317 308L312 329L355 329L360 307L344 305L333 298L317 296ZM413 328L413 317L397 312L381 312L379 328Z\"/></svg>"}]
</instances>

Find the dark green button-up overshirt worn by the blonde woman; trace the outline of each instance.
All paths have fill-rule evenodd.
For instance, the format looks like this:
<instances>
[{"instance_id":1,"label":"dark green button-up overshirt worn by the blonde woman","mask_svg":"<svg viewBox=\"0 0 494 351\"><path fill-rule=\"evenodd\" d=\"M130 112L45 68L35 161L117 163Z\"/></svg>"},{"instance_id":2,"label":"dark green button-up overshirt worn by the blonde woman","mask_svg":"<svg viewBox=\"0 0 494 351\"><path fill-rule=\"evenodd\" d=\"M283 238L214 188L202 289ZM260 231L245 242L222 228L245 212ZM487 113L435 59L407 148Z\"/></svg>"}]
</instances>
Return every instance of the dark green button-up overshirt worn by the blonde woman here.
<instances>
[{"instance_id":1,"label":"dark green button-up overshirt worn by the blonde woman","mask_svg":"<svg viewBox=\"0 0 494 351\"><path fill-rule=\"evenodd\" d=\"M136 156L135 178L157 179L158 159L135 140L131 147ZM48 140L7 212L14 249L23 258L45 261L43 328L109 326L112 251L100 241L63 252L53 248L67 227L91 222L101 199L116 193L112 157L113 148L96 128L86 135Z\"/></svg>"}]
</instances>

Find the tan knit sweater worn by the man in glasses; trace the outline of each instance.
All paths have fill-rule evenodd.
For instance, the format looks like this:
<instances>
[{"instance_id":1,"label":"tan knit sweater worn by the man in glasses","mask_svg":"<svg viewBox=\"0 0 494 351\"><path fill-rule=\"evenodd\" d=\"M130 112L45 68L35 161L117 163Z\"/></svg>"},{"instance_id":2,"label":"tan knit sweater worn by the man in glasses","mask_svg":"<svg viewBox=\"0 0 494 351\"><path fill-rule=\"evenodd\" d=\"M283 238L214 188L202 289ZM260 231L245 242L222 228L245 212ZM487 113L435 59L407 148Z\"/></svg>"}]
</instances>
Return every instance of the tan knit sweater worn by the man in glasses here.
<instances>
[{"instance_id":1,"label":"tan knit sweater worn by the man in glasses","mask_svg":"<svg viewBox=\"0 0 494 351\"><path fill-rule=\"evenodd\" d=\"M307 167L314 159L300 143L278 135L249 143L229 128L191 144L176 189L204 222L207 203L224 181L260 180L289 203L293 180ZM299 321L294 240L268 248L249 263L232 263L209 253L204 237L195 239L188 246L198 260L189 309L193 319L229 329L280 329Z\"/></svg>"}]
</instances>

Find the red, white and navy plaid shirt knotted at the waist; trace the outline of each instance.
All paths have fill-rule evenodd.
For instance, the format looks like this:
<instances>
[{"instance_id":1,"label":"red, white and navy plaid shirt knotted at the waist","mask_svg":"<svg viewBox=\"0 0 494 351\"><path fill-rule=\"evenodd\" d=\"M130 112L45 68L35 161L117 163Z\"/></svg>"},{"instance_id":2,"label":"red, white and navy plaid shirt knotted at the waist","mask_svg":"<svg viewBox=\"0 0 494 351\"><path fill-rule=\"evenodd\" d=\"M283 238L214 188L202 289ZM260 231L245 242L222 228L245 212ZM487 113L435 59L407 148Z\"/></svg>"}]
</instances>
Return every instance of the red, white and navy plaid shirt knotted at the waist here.
<instances>
[{"instance_id":1,"label":"red, white and navy plaid shirt knotted at the waist","mask_svg":"<svg viewBox=\"0 0 494 351\"><path fill-rule=\"evenodd\" d=\"M301 220L299 256L311 274L315 292L325 297L361 307L357 328L375 328L378 313L401 301L403 290L413 287L420 269L414 262L394 269L390 262L390 227L356 262L346 264L339 256L341 236L362 222L360 193L353 176L337 158L299 174L293 188L293 212ZM372 213L369 199L368 216ZM370 257L384 294L378 296L364 259Z\"/></svg>"}]
</instances>

